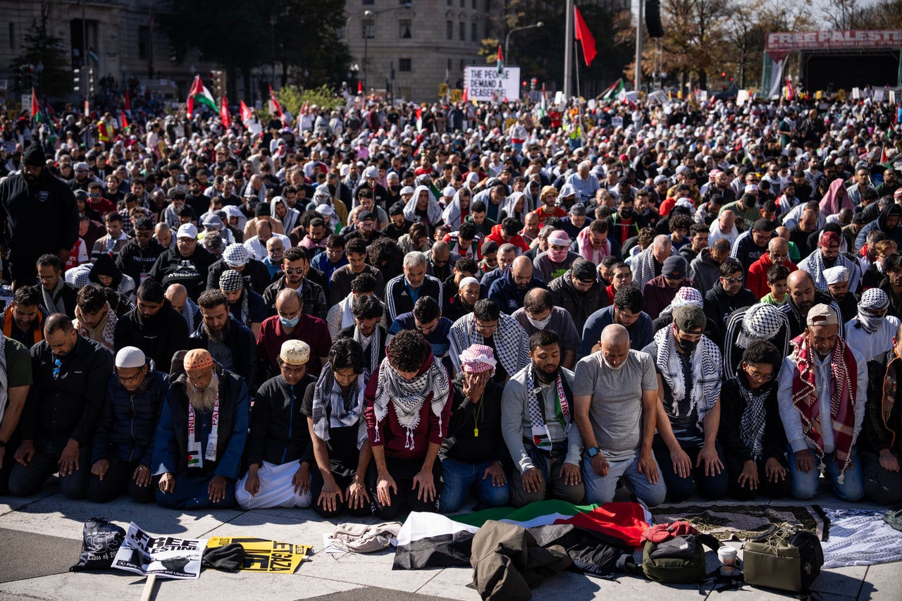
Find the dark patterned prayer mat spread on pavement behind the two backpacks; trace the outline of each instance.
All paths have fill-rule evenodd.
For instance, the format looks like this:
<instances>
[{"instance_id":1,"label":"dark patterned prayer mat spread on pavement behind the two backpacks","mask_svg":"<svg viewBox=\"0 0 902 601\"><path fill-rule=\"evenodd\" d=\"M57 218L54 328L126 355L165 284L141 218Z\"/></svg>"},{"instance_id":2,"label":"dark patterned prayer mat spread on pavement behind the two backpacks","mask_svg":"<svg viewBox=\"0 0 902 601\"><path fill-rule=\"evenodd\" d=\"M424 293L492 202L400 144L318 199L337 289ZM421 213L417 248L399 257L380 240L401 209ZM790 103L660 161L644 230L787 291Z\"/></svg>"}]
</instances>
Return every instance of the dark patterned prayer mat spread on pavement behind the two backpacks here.
<instances>
[{"instance_id":1,"label":"dark patterned prayer mat spread on pavement behind the two backpacks","mask_svg":"<svg viewBox=\"0 0 902 601\"><path fill-rule=\"evenodd\" d=\"M720 541L743 541L780 523L799 524L825 541L830 524L819 505L668 505L649 511L655 523L689 522Z\"/></svg>"}]
</instances>

